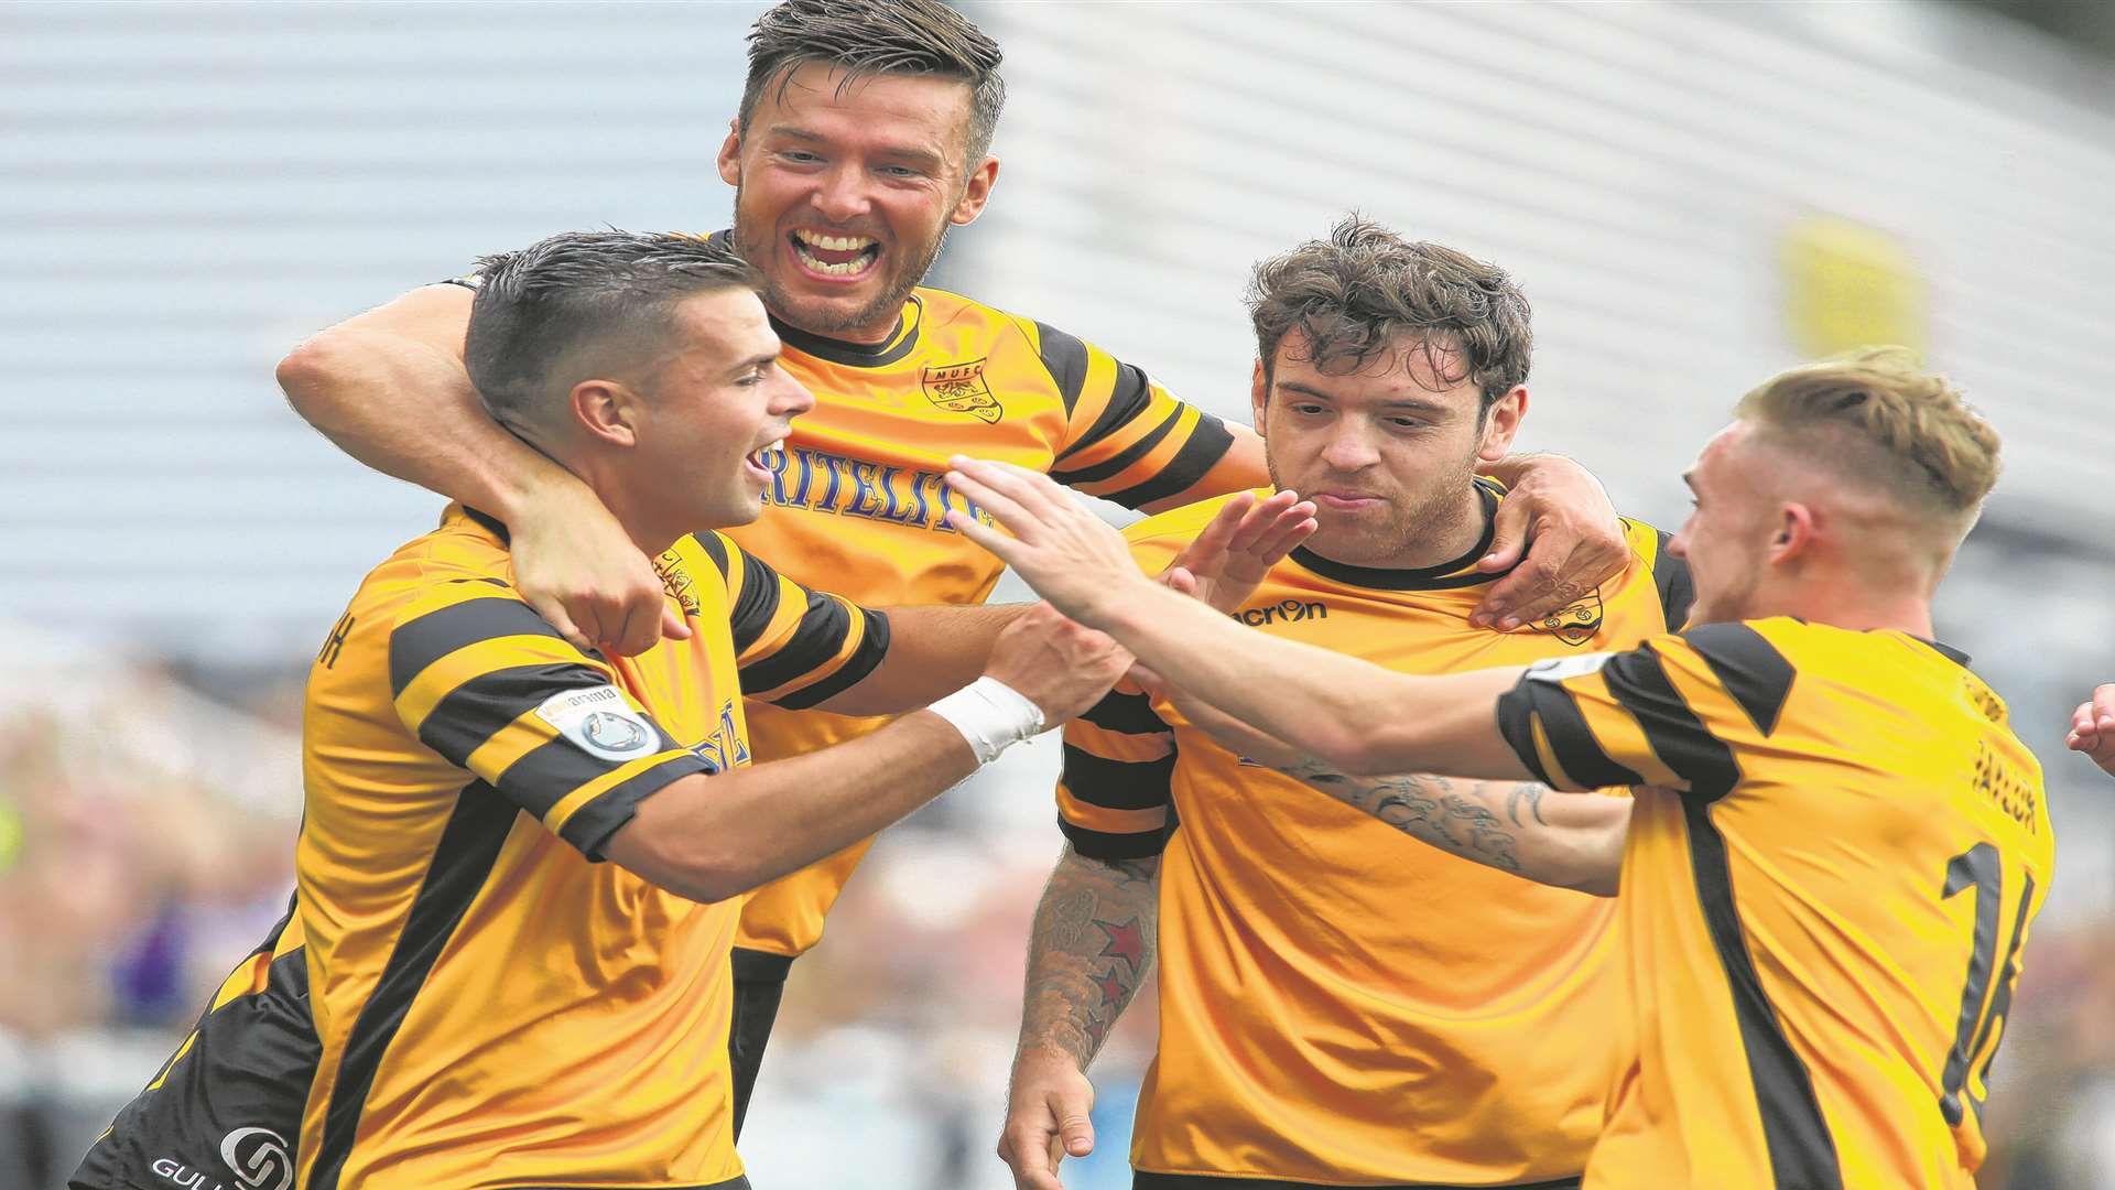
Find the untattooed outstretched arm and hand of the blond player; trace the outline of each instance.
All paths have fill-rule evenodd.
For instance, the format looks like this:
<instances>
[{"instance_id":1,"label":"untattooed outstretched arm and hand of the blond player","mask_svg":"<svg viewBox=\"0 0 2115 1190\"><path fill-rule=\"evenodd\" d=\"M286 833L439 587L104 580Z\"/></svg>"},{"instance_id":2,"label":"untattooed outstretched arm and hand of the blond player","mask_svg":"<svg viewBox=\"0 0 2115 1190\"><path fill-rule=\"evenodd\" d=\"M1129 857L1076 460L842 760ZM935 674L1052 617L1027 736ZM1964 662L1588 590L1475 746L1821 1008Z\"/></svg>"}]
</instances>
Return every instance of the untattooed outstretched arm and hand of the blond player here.
<instances>
[{"instance_id":1,"label":"untattooed outstretched arm and hand of the blond player","mask_svg":"<svg viewBox=\"0 0 2115 1190\"><path fill-rule=\"evenodd\" d=\"M1252 633L1138 572L1121 534L1049 479L956 459L948 474L1013 536L950 512L1060 612L1115 635L1170 686L1347 773L1529 777L1493 705L1523 669L1409 678L1299 642Z\"/></svg>"}]
</instances>

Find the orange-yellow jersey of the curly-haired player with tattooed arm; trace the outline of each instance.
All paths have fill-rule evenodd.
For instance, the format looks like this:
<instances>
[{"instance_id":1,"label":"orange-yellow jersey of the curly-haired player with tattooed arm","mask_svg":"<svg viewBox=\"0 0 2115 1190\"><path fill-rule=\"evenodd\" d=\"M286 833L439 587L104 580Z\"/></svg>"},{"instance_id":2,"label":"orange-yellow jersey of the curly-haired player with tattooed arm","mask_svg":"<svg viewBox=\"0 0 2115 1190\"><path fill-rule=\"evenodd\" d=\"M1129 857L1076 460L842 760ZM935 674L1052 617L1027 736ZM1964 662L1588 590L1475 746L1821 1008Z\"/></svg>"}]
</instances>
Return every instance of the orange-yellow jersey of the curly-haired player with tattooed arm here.
<instances>
[{"instance_id":1,"label":"orange-yellow jersey of the curly-haired player with tattooed arm","mask_svg":"<svg viewBox=\"0 0 2115 1190\"><path fill-rule=\"evenodd\" d=\"M1159 572L1222 504L1134 525L1134 557ZM1688 578L1665 534L1624 531L1624 574L1512 633L1468 623L1489 540L1428 570L1301 548L1235 618L1404 673L1626 648L1686 618ZM1622 1010L1612 900L1426 849L1144 695L1066 726L1058 805L1083 855L1161 853L1142 1188L1506 1186L1586 1167L1618 1059L1595 1025Z\"/></svg>"}]
</instances>

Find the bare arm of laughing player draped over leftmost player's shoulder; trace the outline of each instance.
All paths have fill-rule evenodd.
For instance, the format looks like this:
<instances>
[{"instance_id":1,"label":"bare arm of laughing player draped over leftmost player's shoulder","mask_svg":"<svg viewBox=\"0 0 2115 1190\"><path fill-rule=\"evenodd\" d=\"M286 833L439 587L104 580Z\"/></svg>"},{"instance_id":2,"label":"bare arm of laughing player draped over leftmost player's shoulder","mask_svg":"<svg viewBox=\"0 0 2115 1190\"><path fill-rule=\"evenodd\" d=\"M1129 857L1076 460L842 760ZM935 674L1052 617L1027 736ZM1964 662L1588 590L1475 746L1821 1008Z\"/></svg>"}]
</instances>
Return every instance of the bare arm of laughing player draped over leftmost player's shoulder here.
<instances>
[{"instance_id":1,"label":"bare arm of laughing player draped over leftmost player's shoulder","mask_svg":"<svg viewBox=\"0 0 2115 1190\"><path fill-rule=\"evenodd\" d=\"M522 597L577 648L687 637L594 491L484 413L463 371L472 296L425 286L317 332L279 362L288 404L362 464L505 521Z\"/></svg>"}]
</instances>

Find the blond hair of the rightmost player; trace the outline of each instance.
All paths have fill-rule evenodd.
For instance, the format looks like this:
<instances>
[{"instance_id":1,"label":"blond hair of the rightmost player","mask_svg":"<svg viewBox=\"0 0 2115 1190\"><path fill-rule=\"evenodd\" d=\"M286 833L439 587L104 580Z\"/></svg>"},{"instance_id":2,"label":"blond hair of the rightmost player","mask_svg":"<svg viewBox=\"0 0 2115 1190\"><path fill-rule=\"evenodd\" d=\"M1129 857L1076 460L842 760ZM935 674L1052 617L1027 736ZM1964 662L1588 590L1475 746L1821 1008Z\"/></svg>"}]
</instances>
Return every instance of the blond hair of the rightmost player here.
<instances>
[{"instance_id":1,"label":"blond hair of the rightmost player","mask_svg":"<svg viewBox=\"0 0 2115 1190\"><path fill-rule=\"evenodd\" d=\"M1997 430L1908 347L1779 373L1743 396L1734 415L1910 508L1973 517L1997 485Z\"/></svg>"}]
</instances>

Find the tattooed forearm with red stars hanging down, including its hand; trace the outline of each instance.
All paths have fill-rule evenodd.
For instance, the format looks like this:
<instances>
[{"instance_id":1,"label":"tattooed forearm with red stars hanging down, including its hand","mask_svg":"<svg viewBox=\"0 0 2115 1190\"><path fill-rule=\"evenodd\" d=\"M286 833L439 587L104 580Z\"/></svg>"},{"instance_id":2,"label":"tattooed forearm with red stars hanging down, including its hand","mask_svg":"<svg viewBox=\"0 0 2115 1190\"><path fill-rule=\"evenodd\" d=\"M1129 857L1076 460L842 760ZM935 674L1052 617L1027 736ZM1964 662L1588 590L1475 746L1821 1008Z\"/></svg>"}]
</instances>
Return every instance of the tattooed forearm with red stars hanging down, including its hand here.
<instances>
[{"instance_id":1,"label":"tattooed forearm with red stars hanging down, including its hand","mask_svg":"<svg viewBox=\"0 0 2115 1190\"><path fill-rule=\"evenodd\" d=\"M998 1137L1022 1190L1062 1190L1058 1162L1093 1152L1085 1071L1153 970L1159 870L1159 855L1089 860L1068 845L1043 889Z\"/></svg>"}]
</instances>

